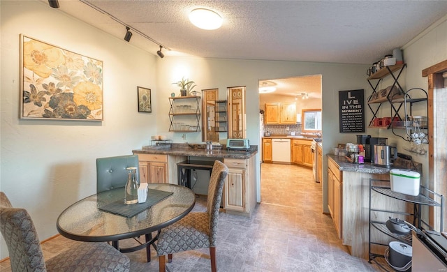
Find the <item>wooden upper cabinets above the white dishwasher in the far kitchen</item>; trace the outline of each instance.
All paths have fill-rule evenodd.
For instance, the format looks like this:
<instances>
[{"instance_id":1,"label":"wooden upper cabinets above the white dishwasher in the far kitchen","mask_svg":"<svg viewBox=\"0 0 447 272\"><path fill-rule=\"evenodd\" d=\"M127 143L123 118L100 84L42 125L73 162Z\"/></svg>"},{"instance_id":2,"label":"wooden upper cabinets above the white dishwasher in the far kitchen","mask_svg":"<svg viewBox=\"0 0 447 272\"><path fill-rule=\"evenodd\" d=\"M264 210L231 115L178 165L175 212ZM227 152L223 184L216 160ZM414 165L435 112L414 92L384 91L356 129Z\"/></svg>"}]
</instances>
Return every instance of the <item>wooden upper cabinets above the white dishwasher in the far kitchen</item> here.
<instances>
[{"instance_id":1,"label":"wooden upper cabinets above the white dishwasher in the far kitchen","mask_svg":"<svg viewBox=\"0 0 447 272\"><path fill-rule=\"evenodd\" d=\"M264 122L266 125L295 124L296 123L295 103L266 103Z\"/></svg>"}]
</instances>

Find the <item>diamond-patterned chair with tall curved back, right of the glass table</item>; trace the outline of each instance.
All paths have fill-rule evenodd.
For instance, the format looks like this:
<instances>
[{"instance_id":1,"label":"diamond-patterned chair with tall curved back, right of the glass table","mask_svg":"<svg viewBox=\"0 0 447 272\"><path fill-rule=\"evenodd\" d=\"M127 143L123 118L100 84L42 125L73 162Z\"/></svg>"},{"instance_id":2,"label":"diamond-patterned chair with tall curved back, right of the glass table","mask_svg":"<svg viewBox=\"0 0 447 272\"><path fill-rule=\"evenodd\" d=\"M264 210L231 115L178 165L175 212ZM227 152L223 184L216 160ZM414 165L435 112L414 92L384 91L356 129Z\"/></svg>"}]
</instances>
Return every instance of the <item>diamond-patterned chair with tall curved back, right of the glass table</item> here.
<instances>
[{"instance_id":1,"label":"diamond-patterned chair with tall curved back, right of the glass table","mask_svg":"<svg viewBox=\"0 0 447 272\"><path fill-rule=\"evenodd\" d=\"M166 269L165 255L168 255L168 262L172 262L173 253L199 248L210 248L211 271L217 271L217 224L223 183L227 175L228 167L216 160L208 186L207 211L188 213L173 225L161 229L156 245L160 272Z\"/></svg>"}]
</instances>

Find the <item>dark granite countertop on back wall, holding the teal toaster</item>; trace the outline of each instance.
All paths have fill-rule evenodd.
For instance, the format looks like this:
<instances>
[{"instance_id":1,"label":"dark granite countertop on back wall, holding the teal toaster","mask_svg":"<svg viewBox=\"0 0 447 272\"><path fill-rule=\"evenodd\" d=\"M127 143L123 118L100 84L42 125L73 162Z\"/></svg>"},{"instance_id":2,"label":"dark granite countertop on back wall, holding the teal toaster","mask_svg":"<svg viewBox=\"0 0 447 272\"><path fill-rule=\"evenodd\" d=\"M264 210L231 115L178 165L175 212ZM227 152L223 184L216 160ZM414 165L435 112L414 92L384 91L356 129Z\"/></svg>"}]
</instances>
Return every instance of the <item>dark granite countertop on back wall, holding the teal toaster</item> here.
<instances>
[{"instance_id":1,"label":"dark granite countertop on back wall, holding the teal toaster","mask_svg":"<svg viewBox=\"0 0 447 272\"><path fill-rule=\"evenodd\" d=\"M222 149L214 148L211 151L198 148L197 145L191 147L189 144L172 144L170 148L165 149L134 149L134 154L163 154L173 156L190 156L190 157L209 157L209 158L235 158L247 159L251 158L258 152L258 146L250 146L248 151L227 150L225 146Z\"/></svg>"}]
</instances>

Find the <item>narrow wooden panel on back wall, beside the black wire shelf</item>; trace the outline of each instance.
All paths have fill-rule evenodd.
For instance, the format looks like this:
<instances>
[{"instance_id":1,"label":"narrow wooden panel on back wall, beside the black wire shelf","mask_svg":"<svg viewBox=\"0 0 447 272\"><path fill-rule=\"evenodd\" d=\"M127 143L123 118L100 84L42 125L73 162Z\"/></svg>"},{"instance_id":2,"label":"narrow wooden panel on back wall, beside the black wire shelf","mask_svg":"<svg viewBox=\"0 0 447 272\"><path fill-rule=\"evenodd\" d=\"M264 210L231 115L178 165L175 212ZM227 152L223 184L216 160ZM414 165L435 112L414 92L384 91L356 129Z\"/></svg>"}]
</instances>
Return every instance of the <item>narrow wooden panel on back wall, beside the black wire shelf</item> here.
<instances>
[{"instance_id":1,"label":"narrow wooden panel on back wall, beside the black wire shelf","mask_svg":"<svg viewBox=\"0 0 447 272\"><path fill-rule=\"evenodd\" d=\"M218 89L202 90L202 141L219 142L219 132L214 128L217 125L216 107L217 97L219 96Z\"/></svg>"}]
</instances>

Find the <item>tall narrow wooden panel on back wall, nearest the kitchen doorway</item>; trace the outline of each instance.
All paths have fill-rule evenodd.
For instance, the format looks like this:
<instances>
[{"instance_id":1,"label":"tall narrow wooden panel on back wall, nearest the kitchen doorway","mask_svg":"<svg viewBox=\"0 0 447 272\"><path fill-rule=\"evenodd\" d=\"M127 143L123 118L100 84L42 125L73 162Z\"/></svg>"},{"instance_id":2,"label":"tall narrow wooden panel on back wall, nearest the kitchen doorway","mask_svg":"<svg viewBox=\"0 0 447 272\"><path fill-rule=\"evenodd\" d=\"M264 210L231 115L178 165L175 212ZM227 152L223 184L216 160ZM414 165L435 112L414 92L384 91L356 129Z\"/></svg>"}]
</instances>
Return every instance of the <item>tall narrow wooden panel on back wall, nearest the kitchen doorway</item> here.
<instances>
[{"instance_id":1,"label":"tall narrow wooden panel on back wall, nearest the kitchen doorway","mask_svg":"<svg viewBox=\"0 0 447 272\"><path fill-rule=\"evenodd\" d=\"M246 136L245 86L228 88L228 138L242 139Z\"/></svg>"}]
</instances>

